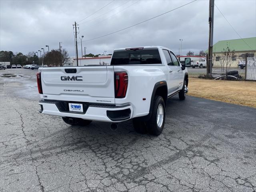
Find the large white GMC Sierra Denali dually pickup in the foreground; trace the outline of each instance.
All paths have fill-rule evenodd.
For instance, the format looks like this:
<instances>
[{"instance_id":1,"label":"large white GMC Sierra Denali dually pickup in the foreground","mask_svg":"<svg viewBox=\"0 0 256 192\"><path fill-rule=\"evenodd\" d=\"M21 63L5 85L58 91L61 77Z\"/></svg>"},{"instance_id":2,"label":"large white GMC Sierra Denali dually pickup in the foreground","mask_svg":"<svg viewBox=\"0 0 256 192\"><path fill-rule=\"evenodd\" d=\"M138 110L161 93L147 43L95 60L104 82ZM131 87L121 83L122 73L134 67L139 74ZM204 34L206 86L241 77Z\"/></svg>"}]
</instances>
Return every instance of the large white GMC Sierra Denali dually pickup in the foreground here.
<instances>
[{"instance_id":1,"label":"large white GMC Sierra Denali dually pickup in the foreground","mask_svg":"<svg viewBox=\"0 0 256 192\"><path fill-rule=\"evenodd\" d=\"M109 66L44 67L37 74L40 113L61 116L71 125L92 120L133 119L140 133L159 135L167 99L188 92L188 72L161 46L115 49Z\"/></svg>"}]
</instances>

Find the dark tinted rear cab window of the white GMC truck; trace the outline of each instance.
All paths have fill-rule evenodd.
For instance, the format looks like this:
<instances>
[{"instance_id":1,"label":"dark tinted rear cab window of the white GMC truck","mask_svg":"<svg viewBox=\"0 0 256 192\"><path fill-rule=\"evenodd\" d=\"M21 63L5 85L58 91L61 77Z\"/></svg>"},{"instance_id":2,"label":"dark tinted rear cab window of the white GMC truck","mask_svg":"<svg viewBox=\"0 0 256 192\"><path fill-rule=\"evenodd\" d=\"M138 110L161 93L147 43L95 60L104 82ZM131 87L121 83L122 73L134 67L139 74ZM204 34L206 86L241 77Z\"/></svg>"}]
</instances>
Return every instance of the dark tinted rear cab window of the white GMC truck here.
<instances>
[{"instance_id":1,"label":"dark tinted rear cab window of the white GMC truck","mask_svg":"<svg viewBox=\"0 0 256 192\"><path fill-rule=\"evenodd\" d=\"M110 65L162 64L158 49L124 50L113 53Z\"/></svg>"}]
</instances>

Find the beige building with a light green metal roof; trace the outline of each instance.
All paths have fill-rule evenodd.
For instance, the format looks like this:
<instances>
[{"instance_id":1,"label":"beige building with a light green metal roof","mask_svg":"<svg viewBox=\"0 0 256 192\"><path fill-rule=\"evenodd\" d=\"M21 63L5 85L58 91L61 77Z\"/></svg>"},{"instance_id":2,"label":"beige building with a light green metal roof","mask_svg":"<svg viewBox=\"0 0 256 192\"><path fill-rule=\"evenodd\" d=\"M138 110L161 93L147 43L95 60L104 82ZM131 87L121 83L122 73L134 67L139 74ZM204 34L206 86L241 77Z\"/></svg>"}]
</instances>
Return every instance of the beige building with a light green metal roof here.
<instances>
[{"instance_id":1,"label":"beige building with a light green metal roof","mask_svg":"<svg viewBox=\"0 0 256 192\"><path fill-rule=\"evenodd\" d=\"M245 60L246 54L249 57L256 56L256 37L218 41L212 49L214 66L221 66L220 60L223 57L224 49L227 47L231 51L234 50L230 66L237 66L239 61ZM208 53L208 49L205 52Z\"/></svg>"}]
</instances>

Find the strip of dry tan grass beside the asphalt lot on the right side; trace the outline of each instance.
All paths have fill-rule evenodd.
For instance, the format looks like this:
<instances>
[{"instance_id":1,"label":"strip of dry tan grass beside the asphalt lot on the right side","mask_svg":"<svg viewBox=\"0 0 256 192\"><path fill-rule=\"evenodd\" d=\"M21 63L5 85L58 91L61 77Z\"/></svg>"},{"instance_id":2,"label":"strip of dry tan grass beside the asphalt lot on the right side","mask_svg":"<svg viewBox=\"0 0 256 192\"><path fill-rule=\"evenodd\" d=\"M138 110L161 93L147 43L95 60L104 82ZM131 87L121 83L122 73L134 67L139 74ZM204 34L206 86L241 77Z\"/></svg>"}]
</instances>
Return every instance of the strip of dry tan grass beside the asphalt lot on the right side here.
<instances>
[{"instance_id":1,"label":"strip of dry tan grass beside the asphalt lot on the right side","mask_svg":"<svg viewBox=\"0 0 256 192\"><path fill-rule=\"evenodd\" d=\"M189 78L188 95L256 108L256 82Z\"/></svg>"}]
</instances>

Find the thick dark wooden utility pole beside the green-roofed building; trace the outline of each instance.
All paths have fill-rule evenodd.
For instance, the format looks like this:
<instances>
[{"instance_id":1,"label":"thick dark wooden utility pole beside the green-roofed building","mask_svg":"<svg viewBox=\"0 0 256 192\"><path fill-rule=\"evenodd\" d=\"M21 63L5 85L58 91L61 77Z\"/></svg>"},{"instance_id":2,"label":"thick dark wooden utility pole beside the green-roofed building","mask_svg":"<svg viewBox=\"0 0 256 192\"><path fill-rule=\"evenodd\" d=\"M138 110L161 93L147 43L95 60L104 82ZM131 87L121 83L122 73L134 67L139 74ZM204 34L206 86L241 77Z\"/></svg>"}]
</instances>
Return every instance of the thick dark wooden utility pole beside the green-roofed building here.
<instances>
[{"instance_id":1,"label":"thick dark wooden utility pole beside the green-roofed building","mask_svg":"<svg viewBox=\"0 0 256 192\"><path fill-rule=\"evenodd\" d=\"M214 0L210 0L209 1L209 42L208 42L207 76L209 76L209 74L212 74L213 20L214 20Z\"/></svg>"}]
</instances>

